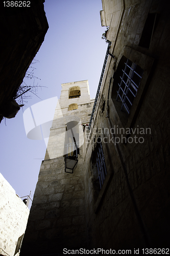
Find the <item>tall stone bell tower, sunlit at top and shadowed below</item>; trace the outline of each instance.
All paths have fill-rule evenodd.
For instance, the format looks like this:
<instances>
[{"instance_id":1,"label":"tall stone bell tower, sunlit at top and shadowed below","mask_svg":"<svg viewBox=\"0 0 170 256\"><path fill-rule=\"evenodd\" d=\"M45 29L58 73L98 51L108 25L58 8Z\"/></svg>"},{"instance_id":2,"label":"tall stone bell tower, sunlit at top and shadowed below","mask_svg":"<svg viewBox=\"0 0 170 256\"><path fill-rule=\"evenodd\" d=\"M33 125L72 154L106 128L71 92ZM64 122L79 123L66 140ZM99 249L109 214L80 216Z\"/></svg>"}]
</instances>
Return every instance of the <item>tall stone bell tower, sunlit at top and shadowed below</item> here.
<instances>
[{"instance_id":1,"label":"tall stone bell tower, sunlit at top and shadowed below","mask_svg":"<svg viewBox=\"0 0 170 256\"><path fill-rule=\"evenodd\" d=\"M94 103L88 80L63 83L56 103L21 256L63 255L63 248L87 248L83 143ZM71 158L78 160L74 173L65 167Z\"/></svg>"}]
</instances>

